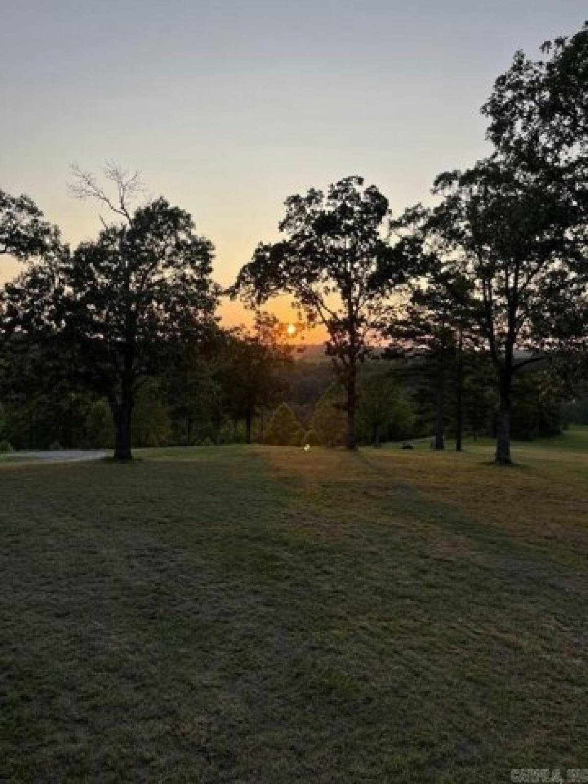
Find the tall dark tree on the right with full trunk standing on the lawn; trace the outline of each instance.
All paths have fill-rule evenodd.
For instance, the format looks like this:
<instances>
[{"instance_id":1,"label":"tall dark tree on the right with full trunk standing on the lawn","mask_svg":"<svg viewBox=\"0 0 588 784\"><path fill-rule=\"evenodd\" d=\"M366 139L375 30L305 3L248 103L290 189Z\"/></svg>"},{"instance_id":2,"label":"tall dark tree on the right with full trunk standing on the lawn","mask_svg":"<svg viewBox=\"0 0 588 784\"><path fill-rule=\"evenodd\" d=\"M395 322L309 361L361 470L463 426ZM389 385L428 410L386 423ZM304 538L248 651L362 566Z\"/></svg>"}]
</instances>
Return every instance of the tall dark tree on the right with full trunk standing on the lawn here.
<instances>
[{"instance_id":1,"label":"tall dark tree on the right with full trunk standing on the lawn","mask_svg":"<svg viewBox=\"0 0 588 784\"><path fill-rule=\"evenodd\" d=\"M561 289L575 285L561 263L569 245L557 187L498 157L466 172L437 177L439 205L423 211L413 237L433 258L434 277L470 309L474 333L485 342L499 391L496 461L510 463L514 374L538 361L535 321ZM460 293L452 281L466 281Z\"/></svg>"}]
</instances>

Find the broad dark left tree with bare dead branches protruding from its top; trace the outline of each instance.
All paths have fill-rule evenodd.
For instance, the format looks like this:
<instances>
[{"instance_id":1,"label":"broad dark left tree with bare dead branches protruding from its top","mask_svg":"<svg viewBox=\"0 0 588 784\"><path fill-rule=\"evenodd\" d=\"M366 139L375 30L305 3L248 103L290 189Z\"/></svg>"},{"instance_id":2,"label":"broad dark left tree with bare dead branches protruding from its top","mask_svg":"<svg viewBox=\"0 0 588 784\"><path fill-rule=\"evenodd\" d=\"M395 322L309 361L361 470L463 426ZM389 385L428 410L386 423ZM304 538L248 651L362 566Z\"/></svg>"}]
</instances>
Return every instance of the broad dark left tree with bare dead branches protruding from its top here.
<instances>
[{"instance_id":1,"label":"broad dark left tree with bare dead branches protruding from its top","mask_svg":"<svg viewBox=\"0 0 588 784\"><path fill-rule=\"evenodd\" d=\"M210 325L218 289L212 244L194 232L184 210L164 198L130 212L136 175L107 169L118 201L80 173L78 194L92 194L122 222L27 271L5 290L5 323L44 335L67 358L71 378L105 397L116 427L114 456L131 454L132 408L145 379L170 350L197 340Z\"/></svg>"}]
</instances>

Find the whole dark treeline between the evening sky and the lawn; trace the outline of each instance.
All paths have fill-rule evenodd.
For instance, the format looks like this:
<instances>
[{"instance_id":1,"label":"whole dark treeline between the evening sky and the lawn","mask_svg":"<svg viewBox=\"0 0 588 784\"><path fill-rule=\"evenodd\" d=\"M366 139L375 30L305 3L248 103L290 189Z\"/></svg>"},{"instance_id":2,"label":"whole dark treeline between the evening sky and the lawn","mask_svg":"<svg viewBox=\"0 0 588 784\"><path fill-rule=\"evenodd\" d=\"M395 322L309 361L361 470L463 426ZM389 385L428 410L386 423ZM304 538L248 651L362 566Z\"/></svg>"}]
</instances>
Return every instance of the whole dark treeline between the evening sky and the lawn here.
<instances>
[{"instance_id":1,"label":"whole dark treeline between the evening sky and the lawn","mask_svg":"<svg viewBox=\"0 0 588 784\"><path fill-rule=\"evenodd\" d=\"M490 436L510 463L511 437L588 422L588 27L542 52L496 80L492 151L437 176L433 206L392 215L361 176L311 188L227 291L191 215L135 206L117 165L72 172L102 221L76 248L0 191L0 255L22 265L0 296L0 449ZM296 340L271 314L284 295ZM223 328L223 296L251 326Z\"/></svg>"}]
</instances>

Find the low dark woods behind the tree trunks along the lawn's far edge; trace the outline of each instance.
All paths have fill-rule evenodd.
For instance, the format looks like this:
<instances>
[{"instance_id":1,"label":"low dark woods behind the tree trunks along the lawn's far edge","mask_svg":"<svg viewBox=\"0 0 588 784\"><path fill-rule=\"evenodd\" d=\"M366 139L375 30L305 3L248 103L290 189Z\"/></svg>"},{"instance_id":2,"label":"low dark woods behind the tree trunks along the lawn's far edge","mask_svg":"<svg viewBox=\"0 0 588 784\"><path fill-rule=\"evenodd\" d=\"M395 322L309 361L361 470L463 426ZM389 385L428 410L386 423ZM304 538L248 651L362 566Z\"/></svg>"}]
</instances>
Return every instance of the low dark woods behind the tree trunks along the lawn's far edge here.
<instances>
[{"instance_id":1,"label":"low dark woods behind the tree trunks along the lawn's far edge","mask_svg":"<svg viewBox=\"0 0 588 784\"><path fill-rule=\"evenodd\" d=\"M235 339L237 340L237 339ZM243 358L249 345L235 342L223 364L198 353L170 362L169 371L150 379L136 395L132 445L212 445L246 441L279 445L343 445L344 390L332 366L292 352L274 365ZM496 394L492 368L473 356L463 386L463 436L495 436ZM115 428L106 398L66 381L34 378L28 358L11 358L4 377L0 449L114 448ZM263 372L263 371L262 371ZM431 437L436 432L437 388L428 361L415 368L385 359L361 368L358 442L379 445ZM455 371L454 371L455 372ZM27 386L22 387L23 379ZM249 385L248 385L249 381ZM547 368L529 370L514 387L512 435L532 439L554 435L568 423L588 424L588 397L567 400ZM562 406L562 403L564 404ZM448 381L442 436L456 437L456 388Z\"/></svg>"}]
</instances>

